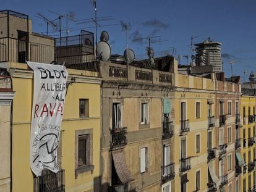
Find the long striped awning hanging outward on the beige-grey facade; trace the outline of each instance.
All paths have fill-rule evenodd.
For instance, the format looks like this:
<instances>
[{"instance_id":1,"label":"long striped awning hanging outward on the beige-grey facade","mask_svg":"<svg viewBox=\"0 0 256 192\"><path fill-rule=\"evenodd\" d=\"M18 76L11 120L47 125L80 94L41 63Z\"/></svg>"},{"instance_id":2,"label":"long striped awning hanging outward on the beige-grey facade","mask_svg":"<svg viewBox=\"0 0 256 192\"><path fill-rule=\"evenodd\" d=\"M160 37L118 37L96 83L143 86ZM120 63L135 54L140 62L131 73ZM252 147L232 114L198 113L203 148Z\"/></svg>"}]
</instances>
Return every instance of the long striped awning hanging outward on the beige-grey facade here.
<instances>
[{"instance_id":1,"label":"long striped awning hanging outward on the beige-grey facade","mask_svg":"<svg viewBox=\"0 0 256 192\"><path fill-rule=\"evenodd\" d=\"M112 151L112 157L114 161L114 167L116 168L116 173L122 183L128 183L134 179L130 176L129 170L126 166L126 161L124 159L124 150Z\"/></svg>"}]
</instances>

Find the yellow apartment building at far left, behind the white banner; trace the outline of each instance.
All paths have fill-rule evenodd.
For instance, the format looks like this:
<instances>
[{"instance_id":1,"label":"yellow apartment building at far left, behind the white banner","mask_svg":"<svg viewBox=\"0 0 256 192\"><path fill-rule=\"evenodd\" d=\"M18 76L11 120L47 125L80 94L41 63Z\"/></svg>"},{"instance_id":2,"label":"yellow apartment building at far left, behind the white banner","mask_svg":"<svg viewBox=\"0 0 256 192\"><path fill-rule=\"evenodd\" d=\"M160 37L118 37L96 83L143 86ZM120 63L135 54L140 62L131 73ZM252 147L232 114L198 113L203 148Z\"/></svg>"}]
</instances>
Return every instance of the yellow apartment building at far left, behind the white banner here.
<instances>
[{"instance_id":1,"label":"yellow apartment building at far left, behind the white banner","mask_svg":"<svg viewBox=\"0 0 256 192\"><path fill-rule=\"evenodd\" d=\"M58 144L60 170L53 173L44 169L41 176L35 177L30 169L35 77L25 61L49 64L56 60L54 51L58 46L54 45L54 38L33 33L32 21L27 15L11 10L0 14L3 27L0 37L0 109L1 118L4 118L1 120L4 137L1 144L6 146L1 152L1 191L100 191L101 78L98 72L67 69L65 110ZM92 36L93 33L89 33L87 38L93 40ZM83 37L80 33L72 40ZM66 46L62 48L66 51L67 44L62 45ZM69 56L75 59L72 54ZM6 123L2 125L2 122Z\"/></svg>"}]
</instances>

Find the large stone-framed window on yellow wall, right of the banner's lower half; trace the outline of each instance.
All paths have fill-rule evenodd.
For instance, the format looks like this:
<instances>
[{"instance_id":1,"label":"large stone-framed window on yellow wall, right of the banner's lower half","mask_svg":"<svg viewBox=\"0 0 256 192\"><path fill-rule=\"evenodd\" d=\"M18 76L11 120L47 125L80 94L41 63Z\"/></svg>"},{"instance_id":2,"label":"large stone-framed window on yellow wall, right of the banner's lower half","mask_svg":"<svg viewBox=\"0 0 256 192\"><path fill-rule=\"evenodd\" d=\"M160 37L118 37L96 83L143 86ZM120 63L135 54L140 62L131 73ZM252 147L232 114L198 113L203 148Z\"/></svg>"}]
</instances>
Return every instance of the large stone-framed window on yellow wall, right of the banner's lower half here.
<instances>
[{"instance_id":1,"label":"large stone-framed window on yellow wall, right of the banner's lower half","mask_svg":"<svg viewBox=\"0 0 256 192\"><path fill-rule=\"evenodd\" d=\"M75 178L94 169L92 143L93 129L75 131Z\"/></svg>"}]
</instances>

